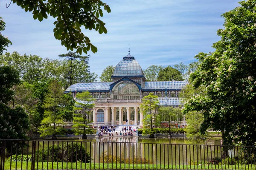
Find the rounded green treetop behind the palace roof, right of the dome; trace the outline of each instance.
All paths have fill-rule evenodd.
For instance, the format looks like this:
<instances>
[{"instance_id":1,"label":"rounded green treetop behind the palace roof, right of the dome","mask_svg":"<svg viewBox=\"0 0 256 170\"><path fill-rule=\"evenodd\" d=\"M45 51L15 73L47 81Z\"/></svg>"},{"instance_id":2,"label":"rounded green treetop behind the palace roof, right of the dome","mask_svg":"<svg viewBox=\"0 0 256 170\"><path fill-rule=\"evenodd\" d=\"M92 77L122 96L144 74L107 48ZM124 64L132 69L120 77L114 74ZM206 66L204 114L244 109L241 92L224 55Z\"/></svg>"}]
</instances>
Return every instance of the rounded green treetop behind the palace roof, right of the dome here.
<instances>
[{"instance_id":1,"label":"rounded green treetop behind the palace roof, right of the dome","mask_svg":"<svg viewBox=\"0 0 256 170\"><path fill-rule=\"evenodd\" d=\"M166 68L163 68L158 73L157 81L180 81L183 80L182 74L180 71L178 71L175 68L172 68L171 66L167 66Z\"/></svg>"}]
</instances>

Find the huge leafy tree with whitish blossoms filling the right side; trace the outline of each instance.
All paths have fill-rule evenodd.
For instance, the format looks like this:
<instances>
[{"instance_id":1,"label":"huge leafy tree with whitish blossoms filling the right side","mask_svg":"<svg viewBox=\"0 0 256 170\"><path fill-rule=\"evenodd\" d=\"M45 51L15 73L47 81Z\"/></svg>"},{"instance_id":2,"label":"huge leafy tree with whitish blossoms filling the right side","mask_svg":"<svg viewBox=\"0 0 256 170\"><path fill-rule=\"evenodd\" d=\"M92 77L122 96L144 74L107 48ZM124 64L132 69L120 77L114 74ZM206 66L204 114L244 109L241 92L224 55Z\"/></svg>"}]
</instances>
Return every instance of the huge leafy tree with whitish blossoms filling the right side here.
<instances>
[{"instance_id":1,"label":"huge leafy tree with whitish blossoms filling the right side","mask_svg":"<svg viewBox=\"0 0 256 170\"><path fill-rule=\"evenodd\" d=\"M216 50L196 56L200 64L190 75L192 85L204 85L206 95L189 99L184 112L202 111L200 131L209 127L221 131L224 145L255 146L256 2L239 3L241 6L222 14L225 23L217 31L221 40L213 44Z\"/></svg>"}]
</instances>

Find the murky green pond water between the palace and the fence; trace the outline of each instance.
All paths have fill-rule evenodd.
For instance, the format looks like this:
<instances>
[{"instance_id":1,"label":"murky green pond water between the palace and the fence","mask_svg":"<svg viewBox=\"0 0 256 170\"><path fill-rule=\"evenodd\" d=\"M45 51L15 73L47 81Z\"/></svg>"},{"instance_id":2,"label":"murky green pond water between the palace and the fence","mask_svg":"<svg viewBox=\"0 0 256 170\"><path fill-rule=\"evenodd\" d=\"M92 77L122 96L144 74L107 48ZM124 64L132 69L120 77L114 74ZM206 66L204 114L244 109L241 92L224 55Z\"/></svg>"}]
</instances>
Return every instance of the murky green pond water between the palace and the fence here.
<instances>
[{"instance_id":1,"label":"murky green pond water between the palace and the fence","mask_svg":"<svg viewBox=\"0 0 256 170\"><path fill-rule=\"evenodd\" d=\"M67 146L67 144L82 144L90 153L93 163L102 163L103 155L109 159L146 160L158 164L189 164L192 161L208 161L221 156L219 139L188 140L185 138L155 139L141 137L102 137L78 139L77 137L62 138L59 142L40 141L38 148L47 148L52 144ZM205 145L207 144L207 146ZM136 162L135 162L136 163Z\"/></svg>"}]
</instances>

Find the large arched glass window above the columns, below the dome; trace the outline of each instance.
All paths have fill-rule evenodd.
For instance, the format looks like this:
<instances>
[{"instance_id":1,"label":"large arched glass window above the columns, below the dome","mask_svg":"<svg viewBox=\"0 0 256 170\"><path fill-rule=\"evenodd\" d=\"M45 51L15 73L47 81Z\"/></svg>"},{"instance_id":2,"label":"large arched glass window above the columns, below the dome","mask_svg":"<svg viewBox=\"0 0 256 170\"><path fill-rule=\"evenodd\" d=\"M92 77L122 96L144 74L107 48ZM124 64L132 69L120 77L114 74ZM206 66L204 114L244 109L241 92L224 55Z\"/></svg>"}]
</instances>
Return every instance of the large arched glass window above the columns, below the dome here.
<instances>
[{"instance_id":1,"label":"large arched glass window above the columns, below the dome","mask_svg":"<svg viewBox=\"0 0 256 170\"><path fill-rule=\"evenodd\" d=\"M130 81L117 83L112 90L113 99L140 99L140 91L137 85Z\"/></svg>"}]
</instances>

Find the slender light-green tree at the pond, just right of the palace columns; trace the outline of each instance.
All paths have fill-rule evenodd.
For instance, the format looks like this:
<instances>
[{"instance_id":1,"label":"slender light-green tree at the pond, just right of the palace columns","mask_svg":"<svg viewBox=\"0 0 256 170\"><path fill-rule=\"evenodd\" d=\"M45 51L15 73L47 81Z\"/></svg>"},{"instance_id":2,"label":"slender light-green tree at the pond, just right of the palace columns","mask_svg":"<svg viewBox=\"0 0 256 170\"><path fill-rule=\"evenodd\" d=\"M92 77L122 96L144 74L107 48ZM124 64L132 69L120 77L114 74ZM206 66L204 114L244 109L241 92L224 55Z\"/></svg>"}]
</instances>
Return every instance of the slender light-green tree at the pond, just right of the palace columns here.
<instances>
[{"instance_id":1,"label":"slender light-green tree at the pond, just right of the palace columns","mask_svg":"<svg viewBox=\"0 0 256 170\"><path fill-rule=\"evenodd\" d=\"M143 116L145 116L145 118L143 119L143 127L149 125L151 130L153 130L154 118L156 117L155 109L159 106L159 101L157 100L157 98L158 97L154 94L149 93L148 96L143 97L143 103L140 104L140 109L143 113ZM150 120L150 122L147 121L148 119ZM154 138L154 134L151 134L149 137Z\"/></svg>"}]
</instances>

